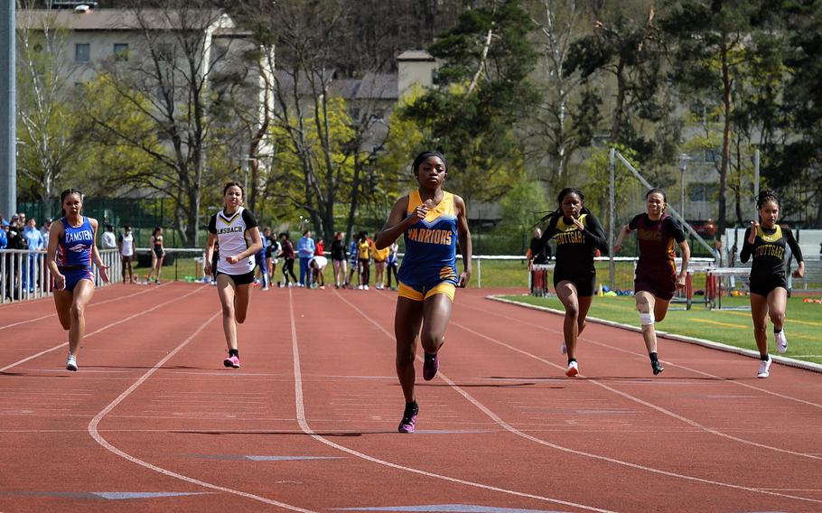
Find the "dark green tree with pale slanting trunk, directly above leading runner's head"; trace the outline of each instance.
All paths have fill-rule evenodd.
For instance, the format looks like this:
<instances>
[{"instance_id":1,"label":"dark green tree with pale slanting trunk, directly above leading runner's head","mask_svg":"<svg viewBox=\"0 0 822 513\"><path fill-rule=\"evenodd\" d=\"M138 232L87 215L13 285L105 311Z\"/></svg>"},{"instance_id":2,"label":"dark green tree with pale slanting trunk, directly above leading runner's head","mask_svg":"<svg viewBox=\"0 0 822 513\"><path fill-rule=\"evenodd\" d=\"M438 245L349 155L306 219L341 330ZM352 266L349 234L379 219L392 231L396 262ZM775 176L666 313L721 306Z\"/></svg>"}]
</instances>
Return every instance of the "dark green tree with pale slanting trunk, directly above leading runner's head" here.
<instances>
[{"instance_id":1,"label":"dark green tree with pale slanting trunk, directly above leading runner's head","mask_svg":"<svg viewBox=\"0 0 822 513\"><path fill-rule=\"evenodd\" d=\"M442 62L434 88L403 109L423 145L444 152L452 187L467 201L499 198L518 181L524 157L512 127L537 101L528 14L516 0L477 4L428 46Z\"/></svg>"}]
</instances>

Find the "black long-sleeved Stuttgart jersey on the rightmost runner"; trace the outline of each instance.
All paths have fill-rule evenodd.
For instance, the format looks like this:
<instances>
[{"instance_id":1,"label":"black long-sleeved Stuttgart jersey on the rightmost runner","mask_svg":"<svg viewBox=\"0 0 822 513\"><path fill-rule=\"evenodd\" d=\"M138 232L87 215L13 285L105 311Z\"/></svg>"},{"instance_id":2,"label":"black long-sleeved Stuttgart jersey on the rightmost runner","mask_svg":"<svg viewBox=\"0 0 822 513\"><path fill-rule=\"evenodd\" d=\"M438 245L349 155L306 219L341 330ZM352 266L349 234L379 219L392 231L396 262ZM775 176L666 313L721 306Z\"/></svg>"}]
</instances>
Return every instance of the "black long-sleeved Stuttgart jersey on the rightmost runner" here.
<instances>
[{"instance_id":1,"label":"black long-sleeved Stuttgart jersey on the rightmost runner","mask_svg":"<svg viewBox=\"0 0 822 513\"><path fill-rule=\"evenodd\" d=\"M753 244L748 242L751 237L751 228L745 230L745 238L743 238L743 250L739 255L743 264L748 261L748 258L753 256L751 263L751 279L759 281L762 278L770 277L785 277L785 246L790 247L793 257L797 262L802 261L802 250L799 249L796 238L793 238L793 233L789 230L782 230L780 225L776 225L772 229L762 229L761 226L756 229L756 238L753 239Z\"/></svg>"}]
</instances>

